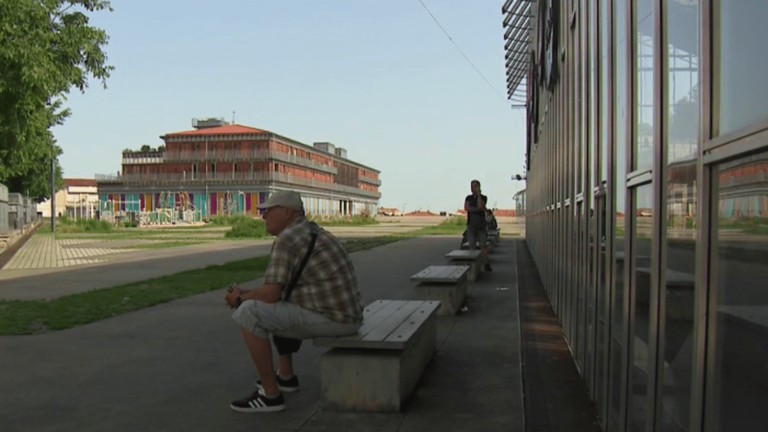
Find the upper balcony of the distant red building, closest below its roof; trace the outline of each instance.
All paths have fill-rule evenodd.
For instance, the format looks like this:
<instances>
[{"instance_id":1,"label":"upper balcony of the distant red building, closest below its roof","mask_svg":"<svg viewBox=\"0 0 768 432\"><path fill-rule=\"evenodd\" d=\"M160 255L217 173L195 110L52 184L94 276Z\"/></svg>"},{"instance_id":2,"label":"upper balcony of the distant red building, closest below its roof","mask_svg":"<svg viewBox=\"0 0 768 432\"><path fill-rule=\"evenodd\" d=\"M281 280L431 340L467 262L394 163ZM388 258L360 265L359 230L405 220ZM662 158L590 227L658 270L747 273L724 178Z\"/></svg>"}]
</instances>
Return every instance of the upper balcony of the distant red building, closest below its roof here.
<instances>
[{"instance_id":1,"label":"upper balcony of the distant red building, closest below its roof","mask_svg":"<svg viewBox=\"0 0 768 432\"><path fill-rule=\"evenodd\" d=\"M238 162L238 161L279 161L291 165L311 168L329 174L337 174L338 168L289 153L267 150L217 150L208 151L166 151L165 162Z\"/></svg>"}]
</instances>

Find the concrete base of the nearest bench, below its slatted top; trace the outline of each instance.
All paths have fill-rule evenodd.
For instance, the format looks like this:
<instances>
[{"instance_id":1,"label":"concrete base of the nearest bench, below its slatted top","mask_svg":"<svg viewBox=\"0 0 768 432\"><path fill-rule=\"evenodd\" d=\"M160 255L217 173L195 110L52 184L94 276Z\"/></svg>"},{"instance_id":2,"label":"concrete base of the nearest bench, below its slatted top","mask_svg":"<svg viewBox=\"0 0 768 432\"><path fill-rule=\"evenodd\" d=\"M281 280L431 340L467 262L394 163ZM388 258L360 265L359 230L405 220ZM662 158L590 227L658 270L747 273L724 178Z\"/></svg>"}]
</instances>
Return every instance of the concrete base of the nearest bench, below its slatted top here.
<instances>
[{"instance_id":1,"label":"concrete base of the nearest bench, below its slatted top","mask_svg":"<svg viewBox=\"0 0 768 432\"><path fill-rule=\"evenodd\" d=\"M403 350L333 348L320 359L320 406L333 411L398 412L437 347L432 314Z\"/></svg>"}]
</instances>

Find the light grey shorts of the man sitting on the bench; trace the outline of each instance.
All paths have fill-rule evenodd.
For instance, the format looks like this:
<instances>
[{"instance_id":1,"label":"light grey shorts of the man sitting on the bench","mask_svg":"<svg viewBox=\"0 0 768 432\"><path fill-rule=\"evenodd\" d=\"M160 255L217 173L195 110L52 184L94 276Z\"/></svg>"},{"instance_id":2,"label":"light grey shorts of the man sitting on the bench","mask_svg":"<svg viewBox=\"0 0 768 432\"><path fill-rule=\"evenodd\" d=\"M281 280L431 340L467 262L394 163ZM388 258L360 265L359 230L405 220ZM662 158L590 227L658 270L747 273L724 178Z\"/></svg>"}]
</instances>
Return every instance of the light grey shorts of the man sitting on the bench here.
<instances>
[{"instance_id":1,"label":"light grey shorts of the man sitting on the bench","mask_svg":"<svg viewBox=\"0 0 768 432\"><path fill-rule=\"evenodd\" d=\"M246 300L232 313L241 327L262 338L277 335L293 339L345 336L357 333L362 323L342 324L291 302Z\"/></svg>"}]
</instances>

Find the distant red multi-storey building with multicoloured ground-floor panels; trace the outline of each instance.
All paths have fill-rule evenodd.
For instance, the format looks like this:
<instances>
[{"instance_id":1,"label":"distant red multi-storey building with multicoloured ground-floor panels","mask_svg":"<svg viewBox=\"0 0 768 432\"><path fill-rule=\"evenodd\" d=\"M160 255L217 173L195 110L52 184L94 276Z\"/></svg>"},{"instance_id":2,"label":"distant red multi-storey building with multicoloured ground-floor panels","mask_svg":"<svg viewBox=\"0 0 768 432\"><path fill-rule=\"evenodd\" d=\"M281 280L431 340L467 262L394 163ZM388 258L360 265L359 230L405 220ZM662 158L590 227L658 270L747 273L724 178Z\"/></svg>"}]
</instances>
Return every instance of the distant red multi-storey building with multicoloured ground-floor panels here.
<instances>
[{"instance_id":1,"label":"distant red multi-storey building with multicoloured ground-floor panels","mask_svg":"<svg viewBox=\"0 0 768 432\"><path fill-rule=\"evenodd\" d=\"M257 214L277 190L299 192L311 215L375 215L380 172L328 142L312 146L223 119L194 119L157 150L124 151L122 173L97 175L104 216L199 220Z\"/></svg>"}]
</instances>

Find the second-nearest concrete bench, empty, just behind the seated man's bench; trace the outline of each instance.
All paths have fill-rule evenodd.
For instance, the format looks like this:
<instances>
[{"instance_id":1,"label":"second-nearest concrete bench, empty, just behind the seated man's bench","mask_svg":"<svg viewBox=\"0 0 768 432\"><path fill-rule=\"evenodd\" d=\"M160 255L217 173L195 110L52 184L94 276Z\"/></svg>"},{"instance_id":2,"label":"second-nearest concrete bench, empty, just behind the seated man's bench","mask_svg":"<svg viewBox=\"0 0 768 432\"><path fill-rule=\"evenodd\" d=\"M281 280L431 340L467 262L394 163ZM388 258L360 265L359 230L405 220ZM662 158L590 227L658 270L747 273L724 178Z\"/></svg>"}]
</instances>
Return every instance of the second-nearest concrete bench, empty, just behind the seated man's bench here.
<instances>
[{"instance_id":1,"label":"second-nearest concrete bench, empty, just behind the seated man's bench","mask_svg":"<svg viewBox=\"0 0 768 432\"><path fill-rule=\"evenodd\" d=\"M416 296L422 300L440 300L437 315L456 315L467 297L469 266L429 266L411 276Z\"/></svg>"}]
</instances>

